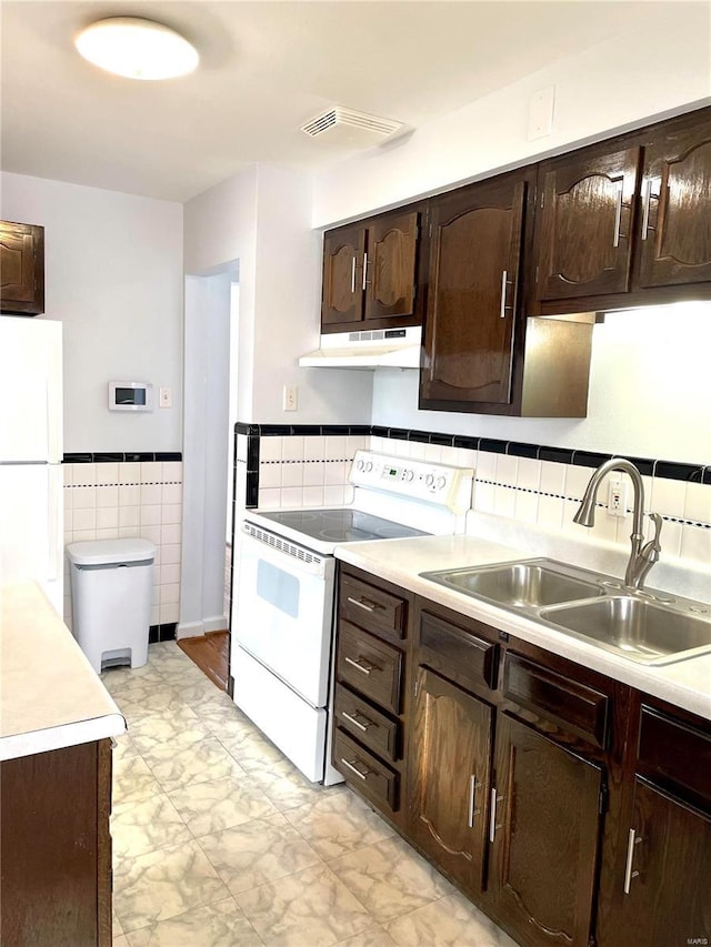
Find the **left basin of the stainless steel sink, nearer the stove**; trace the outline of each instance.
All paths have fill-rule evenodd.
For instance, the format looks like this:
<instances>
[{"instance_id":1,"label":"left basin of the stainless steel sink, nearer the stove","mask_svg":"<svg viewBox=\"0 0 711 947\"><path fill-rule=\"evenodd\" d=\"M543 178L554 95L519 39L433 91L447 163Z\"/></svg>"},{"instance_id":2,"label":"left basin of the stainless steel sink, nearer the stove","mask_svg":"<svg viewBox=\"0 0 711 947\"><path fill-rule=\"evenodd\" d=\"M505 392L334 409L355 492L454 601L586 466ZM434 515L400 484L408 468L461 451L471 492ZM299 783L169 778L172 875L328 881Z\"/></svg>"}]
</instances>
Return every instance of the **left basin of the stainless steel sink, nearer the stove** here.
<instances>
[{"instance_id":1,"label":"left basin of the stainless steel sink, nearer the stove","mask_svg":"<svg viewBox=\"0 0 711 947\"><path fill-rule=\"evenodd\" d=\"M457 592L509 608L538 608L604 595L584 571L551 560L424 572L422 576Z\"/></svg>"}]
</instances>

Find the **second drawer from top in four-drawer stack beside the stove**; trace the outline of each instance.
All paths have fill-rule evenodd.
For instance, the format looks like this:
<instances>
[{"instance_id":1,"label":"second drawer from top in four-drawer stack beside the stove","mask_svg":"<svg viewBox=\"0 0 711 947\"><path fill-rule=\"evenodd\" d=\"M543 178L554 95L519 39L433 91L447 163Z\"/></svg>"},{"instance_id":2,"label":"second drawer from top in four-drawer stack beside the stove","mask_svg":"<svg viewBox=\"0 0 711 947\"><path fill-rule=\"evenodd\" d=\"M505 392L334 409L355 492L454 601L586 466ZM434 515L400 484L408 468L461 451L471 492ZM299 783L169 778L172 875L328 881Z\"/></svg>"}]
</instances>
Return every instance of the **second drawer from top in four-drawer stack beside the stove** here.
<instances>
[{"instance_id":1,"label":"second drawer from top in four-drawer stack beside the stove","mask_svg":"<svg viewBox=\"0 0 711 947\"><path fill-rule=\"evenodd\" d=\"M402 654L394 647L339 622L337 679L370 697L387 711L400 713Z\"/></svg>"}]
</instances>

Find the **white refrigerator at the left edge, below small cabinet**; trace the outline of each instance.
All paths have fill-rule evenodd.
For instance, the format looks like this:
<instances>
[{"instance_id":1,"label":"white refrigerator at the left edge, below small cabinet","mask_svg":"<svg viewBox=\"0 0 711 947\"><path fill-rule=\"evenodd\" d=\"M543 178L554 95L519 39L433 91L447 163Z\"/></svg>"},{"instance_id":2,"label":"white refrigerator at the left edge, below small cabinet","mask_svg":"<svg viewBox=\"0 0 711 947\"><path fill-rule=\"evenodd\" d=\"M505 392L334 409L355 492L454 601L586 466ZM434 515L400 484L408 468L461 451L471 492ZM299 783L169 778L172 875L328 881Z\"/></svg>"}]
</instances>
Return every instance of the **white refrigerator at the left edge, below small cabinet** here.
<instances>
[{"instance_id":1,"label":"white refrigerator at the left edge, below small cabinet","mask_svg":"<svg viewBox=\"0 0 711 947\"><path fill-rule=\"evenodd\" d=\"M62 615L62 326L0 316L0 584L34 578Z\"/></svg>"}]
</instances>

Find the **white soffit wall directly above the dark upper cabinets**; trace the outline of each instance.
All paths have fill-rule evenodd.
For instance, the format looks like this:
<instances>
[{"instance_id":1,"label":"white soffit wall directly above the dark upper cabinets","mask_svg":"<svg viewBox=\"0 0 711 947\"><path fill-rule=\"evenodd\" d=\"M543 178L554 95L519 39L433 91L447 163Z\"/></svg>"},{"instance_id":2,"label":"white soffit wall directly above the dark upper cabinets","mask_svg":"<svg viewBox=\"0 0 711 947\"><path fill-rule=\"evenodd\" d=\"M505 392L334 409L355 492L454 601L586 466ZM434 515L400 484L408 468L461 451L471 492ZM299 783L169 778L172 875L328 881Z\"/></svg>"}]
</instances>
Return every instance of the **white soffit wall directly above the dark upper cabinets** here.
<instances>
[{"instance_id":1,"label":"white soffit wall directly above the dark upper cabinets","mask_svg":"<svg viewBox=\"0 0 711 947\"><path fill-rule=\"evenodd\" d=\"M605 4L600 4L605 16ZM552 133L527 139L531 95L555 87ZM313 224L403 203L571 143L702 104L711 95L711 6L654 2L634 30L562 59L409 137L314 179Z\"/></svg>"}]
</instances>

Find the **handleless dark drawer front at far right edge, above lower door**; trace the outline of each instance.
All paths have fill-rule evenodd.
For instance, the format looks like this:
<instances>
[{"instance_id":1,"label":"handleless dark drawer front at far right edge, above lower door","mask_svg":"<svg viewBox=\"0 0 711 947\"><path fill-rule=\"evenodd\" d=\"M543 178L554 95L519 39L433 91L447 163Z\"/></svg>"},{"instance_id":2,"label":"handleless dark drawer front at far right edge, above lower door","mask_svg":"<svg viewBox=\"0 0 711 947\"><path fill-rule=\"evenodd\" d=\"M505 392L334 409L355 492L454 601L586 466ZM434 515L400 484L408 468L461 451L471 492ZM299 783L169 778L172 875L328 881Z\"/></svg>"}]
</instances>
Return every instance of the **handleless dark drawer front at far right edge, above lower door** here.
<instances>
[{"instance_id":1,"label":"handleless dark drawer front at far right edge, above lower door","mask_svg":"<svg viewBox=\"0 0 711 947\"><path fill-rule=\"evenodd\" d=\"M650 779L711 806L710 734L642 705L638 762Z\"/></svg>"}]
</instances>

